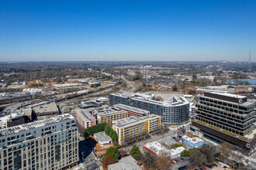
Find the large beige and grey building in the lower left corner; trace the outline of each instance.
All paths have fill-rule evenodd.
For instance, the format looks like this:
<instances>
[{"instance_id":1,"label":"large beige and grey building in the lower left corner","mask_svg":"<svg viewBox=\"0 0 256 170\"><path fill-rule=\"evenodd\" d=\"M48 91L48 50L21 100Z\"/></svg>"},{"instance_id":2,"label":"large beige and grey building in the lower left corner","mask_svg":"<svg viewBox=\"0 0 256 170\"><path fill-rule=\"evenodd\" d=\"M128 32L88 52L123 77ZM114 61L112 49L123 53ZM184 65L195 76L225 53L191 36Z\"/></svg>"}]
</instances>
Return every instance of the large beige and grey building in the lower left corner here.
<instances>
[{"instance_id":1,"label":"large beige and grey building in the lower left corner","mask_svg":"<svg viewBox=\"0 0 256 170\"><path fill-rule=\"evenodd\" d=\"M0 169L68 169L78 162L75 118L62 114L0 130Z\"/></svg>"}]
</instances>

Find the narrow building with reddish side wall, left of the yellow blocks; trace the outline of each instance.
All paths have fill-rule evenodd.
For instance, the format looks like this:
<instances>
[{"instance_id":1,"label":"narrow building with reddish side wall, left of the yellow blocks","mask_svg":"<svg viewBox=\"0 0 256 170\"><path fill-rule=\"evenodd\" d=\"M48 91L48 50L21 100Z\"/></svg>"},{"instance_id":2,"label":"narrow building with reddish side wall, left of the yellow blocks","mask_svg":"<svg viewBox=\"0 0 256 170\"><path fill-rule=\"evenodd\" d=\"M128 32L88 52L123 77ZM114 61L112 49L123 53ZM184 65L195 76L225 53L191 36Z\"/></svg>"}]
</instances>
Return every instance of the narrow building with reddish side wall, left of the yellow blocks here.
<instances>
[{"instance_id":1,"label":"narrow building with reddish side wall, left of the yellow blocks","mask_svg":"<svg viewBox=\"0 0 256 170\"><path fill-rule=\"evenodd\" d=\"M77 120L77 125L79 131L83 132L86 128L96 125L96 119L88 110L75 110L75 118Z\"/></svg>"}]
</instances>

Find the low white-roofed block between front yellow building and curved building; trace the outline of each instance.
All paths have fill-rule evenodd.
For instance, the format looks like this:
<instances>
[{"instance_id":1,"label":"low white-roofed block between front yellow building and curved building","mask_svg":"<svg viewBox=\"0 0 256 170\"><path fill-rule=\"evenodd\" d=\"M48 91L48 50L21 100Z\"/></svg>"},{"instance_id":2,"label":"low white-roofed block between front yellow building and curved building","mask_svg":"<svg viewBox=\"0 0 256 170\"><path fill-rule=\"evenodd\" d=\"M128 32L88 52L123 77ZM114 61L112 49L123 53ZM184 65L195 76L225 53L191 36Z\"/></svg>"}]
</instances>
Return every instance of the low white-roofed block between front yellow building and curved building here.
<instances>
[{"instance_id":1,"label":"low white-roofed block between front yellow building and curved building","mask_svg":"<svg viewBox=\"0 0 256 170\"><path fill-rule=\"evenodd\" d=\"M128 116L142 117L142 116L147 116L148 114L150 114L150 111L148 111L148 110L143 110L143 109L139 109L136 107L130 107L125 104L116 104L113 107L120 109L120 110L128 111Z\"/></svg>"}]
</instances>

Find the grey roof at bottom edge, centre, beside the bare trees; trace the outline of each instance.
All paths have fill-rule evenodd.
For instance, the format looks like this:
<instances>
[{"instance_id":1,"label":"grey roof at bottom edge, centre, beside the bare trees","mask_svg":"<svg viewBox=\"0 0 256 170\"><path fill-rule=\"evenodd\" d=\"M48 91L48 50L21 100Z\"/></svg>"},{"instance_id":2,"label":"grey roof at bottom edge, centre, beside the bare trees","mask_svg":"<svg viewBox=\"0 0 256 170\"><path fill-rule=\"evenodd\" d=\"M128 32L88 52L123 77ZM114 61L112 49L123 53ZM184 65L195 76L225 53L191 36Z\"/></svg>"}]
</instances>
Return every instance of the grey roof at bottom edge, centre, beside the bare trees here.
<instances>
[{"instance_id":1,"label":"grey roof at bottom edge, centre, beside the bare trees","mask_svg":"<svg viewBox=\"0 0 256 170\"><path fill-rule=\"evenodd\" d=\"M110 170L140 170L137 161L132 156L123 157L116 164L108 166Z\"/></svg>"}]
</instances>

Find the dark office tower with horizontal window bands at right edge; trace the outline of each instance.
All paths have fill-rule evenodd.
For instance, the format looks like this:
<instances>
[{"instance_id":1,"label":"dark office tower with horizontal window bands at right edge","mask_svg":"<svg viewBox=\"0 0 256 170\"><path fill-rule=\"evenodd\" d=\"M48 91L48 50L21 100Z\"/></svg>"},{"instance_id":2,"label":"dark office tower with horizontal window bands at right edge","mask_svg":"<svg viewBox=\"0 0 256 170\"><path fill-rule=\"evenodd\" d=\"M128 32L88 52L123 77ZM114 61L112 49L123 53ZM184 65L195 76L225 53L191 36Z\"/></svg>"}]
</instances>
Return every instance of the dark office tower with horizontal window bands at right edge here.
<instances>
[{"instance_id":1,"label":"dark office tower with horizontal window bands at right edge","mask_svg":"<svg viewBox=\"0 0 256 170\"><path fill-rule=\"evenodd\" d=\"M195 97L192 128L217 141L255 151L255 102L230 93L205 92Z\"/></svg>"}]
</instances>

